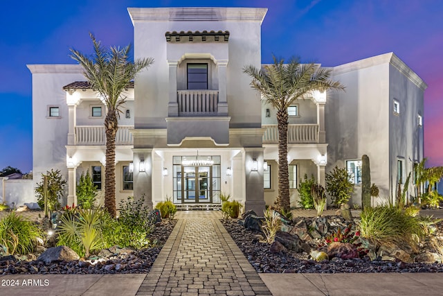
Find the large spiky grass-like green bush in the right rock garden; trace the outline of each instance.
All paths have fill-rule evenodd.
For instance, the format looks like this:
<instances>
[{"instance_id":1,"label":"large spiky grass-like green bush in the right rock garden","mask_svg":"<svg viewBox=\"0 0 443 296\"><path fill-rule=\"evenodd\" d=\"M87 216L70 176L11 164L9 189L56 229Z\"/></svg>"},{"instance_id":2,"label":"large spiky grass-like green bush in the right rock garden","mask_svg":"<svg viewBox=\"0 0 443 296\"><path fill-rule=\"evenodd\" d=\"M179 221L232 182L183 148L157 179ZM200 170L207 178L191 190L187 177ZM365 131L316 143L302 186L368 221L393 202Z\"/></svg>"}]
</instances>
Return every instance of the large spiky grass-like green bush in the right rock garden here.
<instances>
[{"instance_id":1,"label":"large spiky grass-like green bush in the right rock garden","mask_svg":"<svg viewBox=\"0 0 443 296\"><path fill-rule=\"evenodd\" d=\"M419 220L408 216L399 207L383 205L368 207L361 212L359 222L361 237L381 246L410 245L417 250L417 237L423 236Z\"/></svg>"}]
</instances>

